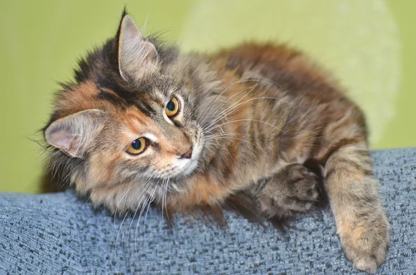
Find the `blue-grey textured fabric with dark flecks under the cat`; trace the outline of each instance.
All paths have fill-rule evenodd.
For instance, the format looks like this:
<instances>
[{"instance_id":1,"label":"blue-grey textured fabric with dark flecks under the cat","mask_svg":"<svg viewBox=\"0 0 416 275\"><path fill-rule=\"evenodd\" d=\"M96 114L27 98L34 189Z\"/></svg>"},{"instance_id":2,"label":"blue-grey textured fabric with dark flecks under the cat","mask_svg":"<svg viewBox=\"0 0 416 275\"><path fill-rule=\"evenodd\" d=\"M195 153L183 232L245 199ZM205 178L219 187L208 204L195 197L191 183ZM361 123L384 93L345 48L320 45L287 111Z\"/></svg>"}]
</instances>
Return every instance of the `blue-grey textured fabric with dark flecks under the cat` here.
<instances>
[{"instance_id":1,"label":"blue-grey textured fabric with dark flecks under the cat","mask_svg":"<svg viewBox=\"0 0 416 275\"><path fill-rule=\"evenodd\" d=\"M372 157L392 224L379 274L416 274L416 148ZM146 226L144 216L139 226L137 217L114 222L73 191L0 193L0 209L0 274L362 273L345 259L328 209L300 215L285 234L234 213L227 231L181 218L169 229L153 209Z\"/></svg>"}]
</instances>

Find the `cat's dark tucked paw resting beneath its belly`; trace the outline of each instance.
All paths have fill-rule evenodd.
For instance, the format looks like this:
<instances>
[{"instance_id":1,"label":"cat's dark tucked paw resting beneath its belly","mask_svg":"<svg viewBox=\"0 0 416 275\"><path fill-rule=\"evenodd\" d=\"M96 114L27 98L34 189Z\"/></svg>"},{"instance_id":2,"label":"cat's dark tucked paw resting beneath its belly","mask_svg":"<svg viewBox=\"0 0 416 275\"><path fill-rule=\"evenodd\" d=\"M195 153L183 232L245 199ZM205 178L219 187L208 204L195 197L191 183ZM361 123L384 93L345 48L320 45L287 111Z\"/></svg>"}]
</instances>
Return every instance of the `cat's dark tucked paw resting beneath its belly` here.
<instances>
[{"instance_id":1,"label":"cat's dark tucked paw resting beneath its belly","mask_svg":"<svg viewBox=\"0 0 416 275\"><path fill-rule=\"evenodd\" d=\"M316 175L301 163L292 163L260 179L249 190L267 218L307 211L318 198Z\"/></svg>"}]
</instances>

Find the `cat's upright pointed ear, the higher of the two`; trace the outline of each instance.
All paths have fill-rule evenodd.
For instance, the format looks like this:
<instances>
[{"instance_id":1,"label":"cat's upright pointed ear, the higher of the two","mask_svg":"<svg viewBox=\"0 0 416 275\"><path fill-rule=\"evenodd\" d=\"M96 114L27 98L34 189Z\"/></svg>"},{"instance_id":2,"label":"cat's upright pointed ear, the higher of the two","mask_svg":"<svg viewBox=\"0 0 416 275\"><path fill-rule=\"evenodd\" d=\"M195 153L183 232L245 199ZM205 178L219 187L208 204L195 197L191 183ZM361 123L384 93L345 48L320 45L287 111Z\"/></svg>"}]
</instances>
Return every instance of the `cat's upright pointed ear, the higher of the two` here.
<instances>
[{"instance_id":1,"label":"cat's upright pointed ear, the higher of the two","mask_svg":"<svg viewBox=\"0 0 416 275\"><path fill-rule=\"evenodd\" d=\"M140 78L144 71L157 65L155 46L141 35L130 15L124 15L119 27L119 71L129 81Z\"/></svg>"}]
</instances>

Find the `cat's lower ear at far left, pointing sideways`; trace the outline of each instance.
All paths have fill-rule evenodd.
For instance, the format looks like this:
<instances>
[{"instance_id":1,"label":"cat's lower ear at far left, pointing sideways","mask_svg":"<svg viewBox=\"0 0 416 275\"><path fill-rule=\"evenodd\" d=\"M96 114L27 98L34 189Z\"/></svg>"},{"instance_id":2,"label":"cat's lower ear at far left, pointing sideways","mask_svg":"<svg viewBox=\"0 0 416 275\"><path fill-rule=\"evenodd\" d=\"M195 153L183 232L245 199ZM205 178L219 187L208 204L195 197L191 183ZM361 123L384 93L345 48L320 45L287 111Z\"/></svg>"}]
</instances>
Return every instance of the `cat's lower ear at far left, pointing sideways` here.
<instances>
[{"instance_id":1,"label":"cat's lower ear at far left, pointing sideways","mask_svg":"<svg viewBox=\"0 0 416 275\"><path fill-rule=\"evenodd\" d=\"M64 116L46 128L46 141L69 157L82 158L107 122L108 116L98 109Z\"/></svg>"}]
</instances>

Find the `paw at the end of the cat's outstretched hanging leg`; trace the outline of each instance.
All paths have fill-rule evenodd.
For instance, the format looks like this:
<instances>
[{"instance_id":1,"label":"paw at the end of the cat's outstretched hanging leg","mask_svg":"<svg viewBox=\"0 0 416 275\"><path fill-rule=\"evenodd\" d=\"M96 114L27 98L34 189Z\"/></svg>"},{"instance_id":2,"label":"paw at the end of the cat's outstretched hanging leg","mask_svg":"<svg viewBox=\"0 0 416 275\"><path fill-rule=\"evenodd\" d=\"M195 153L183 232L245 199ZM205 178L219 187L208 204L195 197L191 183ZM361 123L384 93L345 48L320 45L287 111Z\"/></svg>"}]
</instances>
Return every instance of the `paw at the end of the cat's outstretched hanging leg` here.
<instances>
[{"instance_id":1,"label":"paw at the end of the cat's outstretched hanging leg","mask_svg":"<svg viewBox=\"0 0 416 275\"><path fill-rule=\"evenodd\" d=\"M364 220L354 222L340 221L338 233L345 256L355 267L367 273L376 273L377 267L384 263L390 245L390 224L383 210L368 215Z\"/></svg>"}]
</instances>

